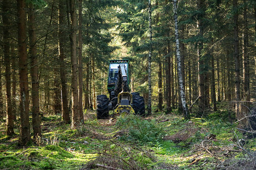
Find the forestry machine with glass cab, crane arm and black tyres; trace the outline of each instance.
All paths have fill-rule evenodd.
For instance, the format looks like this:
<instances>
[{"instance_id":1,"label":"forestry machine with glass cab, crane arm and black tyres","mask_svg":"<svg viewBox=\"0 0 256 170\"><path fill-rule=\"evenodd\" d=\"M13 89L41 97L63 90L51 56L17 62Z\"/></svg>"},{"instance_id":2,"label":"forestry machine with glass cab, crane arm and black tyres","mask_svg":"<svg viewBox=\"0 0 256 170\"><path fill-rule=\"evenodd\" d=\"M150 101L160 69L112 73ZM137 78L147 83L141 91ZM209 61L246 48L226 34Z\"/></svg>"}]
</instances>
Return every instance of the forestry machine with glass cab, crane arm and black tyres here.
<instances>
[{"instance_id":1,"label":"forestry machine with glass cab, crane arm and black tyres","mask_svg":"<svg viewBox=\"0 0 256 170\"><path fill-rule=\"evenodd\" d=\"M138 92L131 92L129 60L110 60L108 70L108 92L97 96L97 118L108 118L114 114L139 114L144 116L144 98Z\"/></svg>"}]
</instances>

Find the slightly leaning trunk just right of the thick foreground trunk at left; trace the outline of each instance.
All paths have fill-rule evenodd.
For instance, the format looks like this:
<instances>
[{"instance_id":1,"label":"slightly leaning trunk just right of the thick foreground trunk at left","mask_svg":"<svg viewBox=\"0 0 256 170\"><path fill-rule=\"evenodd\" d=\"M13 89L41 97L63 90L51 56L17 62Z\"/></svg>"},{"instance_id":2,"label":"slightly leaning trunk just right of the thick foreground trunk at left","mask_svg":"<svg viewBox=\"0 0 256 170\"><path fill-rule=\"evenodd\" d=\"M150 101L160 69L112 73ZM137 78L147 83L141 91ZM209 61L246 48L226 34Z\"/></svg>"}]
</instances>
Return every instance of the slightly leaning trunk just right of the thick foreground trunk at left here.
<instances>
[{"instance_id":1,"label":"slightly leaning trunk just right of the thick foreground trunk at left","mask_svg":"<svg viewBox=\"0 0 256 170\"><path fill-rule=\"evenodd\" d=\"M35 8L32 3L29 6L28 32L30 40L30 59L31 59L31 83L32 83L32 127L34 138L42 137L41 120L39 111L39 82L38 82L38 59L36 56L36 32L35 32Z\"/></svg>"}]
</instances>

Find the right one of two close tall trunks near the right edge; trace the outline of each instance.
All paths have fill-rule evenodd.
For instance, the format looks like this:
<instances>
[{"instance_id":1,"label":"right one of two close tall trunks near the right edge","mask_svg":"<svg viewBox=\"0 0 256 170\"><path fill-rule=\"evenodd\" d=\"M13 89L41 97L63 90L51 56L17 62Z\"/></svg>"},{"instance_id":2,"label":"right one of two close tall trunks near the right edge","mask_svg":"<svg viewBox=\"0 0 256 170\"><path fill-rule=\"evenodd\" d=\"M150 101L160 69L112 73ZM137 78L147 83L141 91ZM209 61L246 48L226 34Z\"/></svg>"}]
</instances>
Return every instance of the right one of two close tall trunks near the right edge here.
<instances>
[{"instance_id":1,"label":"right one of two close tall trunks near the right edge","mask_svg":"<svg viewBox=\"0 0 256 170\"><path fill-rule=\"evenodd\" d=\"M243 91L244 99L250 101L250 66L249 56L247 52L248 43L248 28L247 28L247 1L243 0ZM246 103L249 106L249 103Z\"/></svg>"}]
</instances>

